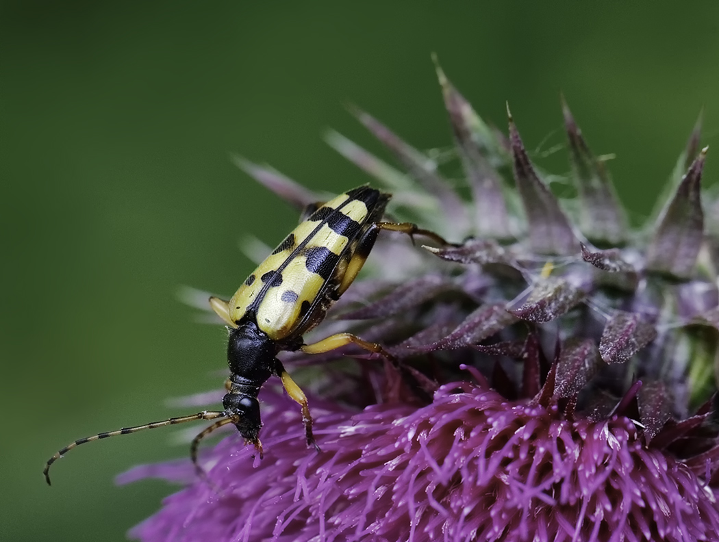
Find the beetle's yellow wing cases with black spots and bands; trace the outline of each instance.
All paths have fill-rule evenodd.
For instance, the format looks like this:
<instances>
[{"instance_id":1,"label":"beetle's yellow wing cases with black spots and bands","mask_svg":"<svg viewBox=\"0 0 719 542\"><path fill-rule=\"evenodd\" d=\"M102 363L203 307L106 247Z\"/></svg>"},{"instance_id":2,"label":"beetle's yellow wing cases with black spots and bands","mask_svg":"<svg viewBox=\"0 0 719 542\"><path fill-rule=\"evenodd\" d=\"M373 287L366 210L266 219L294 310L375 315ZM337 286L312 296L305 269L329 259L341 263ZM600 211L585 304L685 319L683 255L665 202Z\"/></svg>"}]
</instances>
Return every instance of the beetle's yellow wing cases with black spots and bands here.
<instances>
[{"instance_id":1,"label":"beetle's yellow wing cases with black spots and bands","mask_svg":"<svg viewBox=\"0 0 719 542\"><path fill-rule=\"evenodd\" d=\"M213 308L232 327L248 311L254 313L257 326L273 341L305 334L362 268L389 198L362 186L319 206L247 277L226 306L213 298Z\"/></svg>"}]
</instances>

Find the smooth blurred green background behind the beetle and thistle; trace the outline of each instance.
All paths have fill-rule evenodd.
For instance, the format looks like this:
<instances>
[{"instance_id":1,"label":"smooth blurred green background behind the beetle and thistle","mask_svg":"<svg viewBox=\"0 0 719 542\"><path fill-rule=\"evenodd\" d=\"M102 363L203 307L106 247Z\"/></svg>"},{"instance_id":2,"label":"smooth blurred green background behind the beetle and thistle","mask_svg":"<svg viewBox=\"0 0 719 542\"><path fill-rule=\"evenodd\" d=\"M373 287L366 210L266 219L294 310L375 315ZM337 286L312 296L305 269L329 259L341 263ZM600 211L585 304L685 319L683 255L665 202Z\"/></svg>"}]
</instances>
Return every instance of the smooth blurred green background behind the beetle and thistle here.
<instances>
[{"instance_id":1,"label":"smooth blurred green background behind the beetle and thistle","mask_svg":"<svg viewBox=\"0 0 719 542\"><path fill-rule=\"evenodd\" d=\"M447 147L436 52L486 119L504 128L510 102L530 149L563 141L563 91L592 149L616 153L634 221L649 214L702 105L716 140L719 4L628 4L1 4L0 540L120 541L173 490L113 483L184 456L173 431L83 446L51 488L40 472L74 438L221 385L224 330L178 288L231 294L252 267L238 239L275 244L296 221L228 152L318 190L364 183L321 139L380 150L349 102ZM564 152L540 163L568 169Z\"/></svg>"}]
</instances>

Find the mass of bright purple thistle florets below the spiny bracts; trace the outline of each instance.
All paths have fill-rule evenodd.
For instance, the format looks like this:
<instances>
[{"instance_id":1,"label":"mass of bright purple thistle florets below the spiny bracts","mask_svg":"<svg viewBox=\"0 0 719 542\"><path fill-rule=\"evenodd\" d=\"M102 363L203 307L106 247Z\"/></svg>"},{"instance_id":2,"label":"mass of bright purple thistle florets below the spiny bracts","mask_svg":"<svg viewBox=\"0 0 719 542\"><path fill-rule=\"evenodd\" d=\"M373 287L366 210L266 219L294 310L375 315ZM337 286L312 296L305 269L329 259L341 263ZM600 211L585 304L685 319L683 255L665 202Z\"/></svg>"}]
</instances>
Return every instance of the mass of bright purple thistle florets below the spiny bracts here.
<instances>
[{"instance_id":1,"label":"mass of bright purple thistle florets below the spiny bracts","mask_svg":"<svg viewBox=\"0 0 719 542\"><path fill-rule=\"evenodd\" d=\"M275 396L265 453L229 436L196 480L131 532L143 541L713 540L719 492L646 449L623 415L568 421L469 382L430 405L324 408L322 452L302 443L293 405ZM322 405L331 408L331 405ZM270 409L267 409L270 410ZM181 464L137 467L122 482L190 482Z\"/></svg>"}]
</instances>

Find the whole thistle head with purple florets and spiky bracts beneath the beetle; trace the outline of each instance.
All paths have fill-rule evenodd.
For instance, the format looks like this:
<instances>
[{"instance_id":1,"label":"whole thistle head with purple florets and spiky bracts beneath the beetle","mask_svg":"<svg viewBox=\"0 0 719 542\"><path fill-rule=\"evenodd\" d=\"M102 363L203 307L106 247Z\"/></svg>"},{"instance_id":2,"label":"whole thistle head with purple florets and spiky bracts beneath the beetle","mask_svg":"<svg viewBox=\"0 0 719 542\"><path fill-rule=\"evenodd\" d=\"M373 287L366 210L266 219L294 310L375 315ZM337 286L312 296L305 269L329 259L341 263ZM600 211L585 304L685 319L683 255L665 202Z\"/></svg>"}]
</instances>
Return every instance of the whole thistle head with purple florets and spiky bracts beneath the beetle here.
<instances>
[{"instance_id":1,"label":"whole thistle head with purple florets and spiky bracts beneath the beetle","mask_svg":"<svg viewBox=\"0 0 719 542\"><path fill-rule=\"evenodd\" d=\"M719 200L702 201L700 123L663 208L634 231L567 104L577 198L560 203L511 114L505 137L438 74L471 202L363 111L406 173L329 134L393 191L394 218L465 239L380 236L374 274L316 331L387 345L416 382L349 348L288 355L296 375L318 367L304 370L321 452L268 387L264 459L232 434L201 456L209 480L187 460L120 477L185 486L133 538L719 540ZM239 165L298 206L321 199Z\"/></svg>"}]
</instances>

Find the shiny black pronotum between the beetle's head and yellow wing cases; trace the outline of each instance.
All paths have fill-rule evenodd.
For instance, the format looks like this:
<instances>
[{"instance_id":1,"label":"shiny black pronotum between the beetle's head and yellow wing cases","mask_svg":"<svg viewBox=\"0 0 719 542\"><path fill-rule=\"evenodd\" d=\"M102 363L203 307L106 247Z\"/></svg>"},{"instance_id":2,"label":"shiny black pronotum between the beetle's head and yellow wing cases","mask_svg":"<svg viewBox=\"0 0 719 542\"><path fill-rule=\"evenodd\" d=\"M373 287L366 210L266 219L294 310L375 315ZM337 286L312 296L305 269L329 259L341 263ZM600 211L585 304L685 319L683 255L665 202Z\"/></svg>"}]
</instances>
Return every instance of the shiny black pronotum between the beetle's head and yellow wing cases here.
<instances>
[{"instance_id":1,"label":"shiny black pronotum between the beetle's head and yellow wing cases","mask_svg":"<svg viewBox=\"0 0 719 542\"><path fill-rule=\"evenodd\" d=\"M272 375L275 367L275 341L257 328L254 321L240 322L229 331L227 363L229 370L258 387Z\"/></svg>"}]
</instances>

